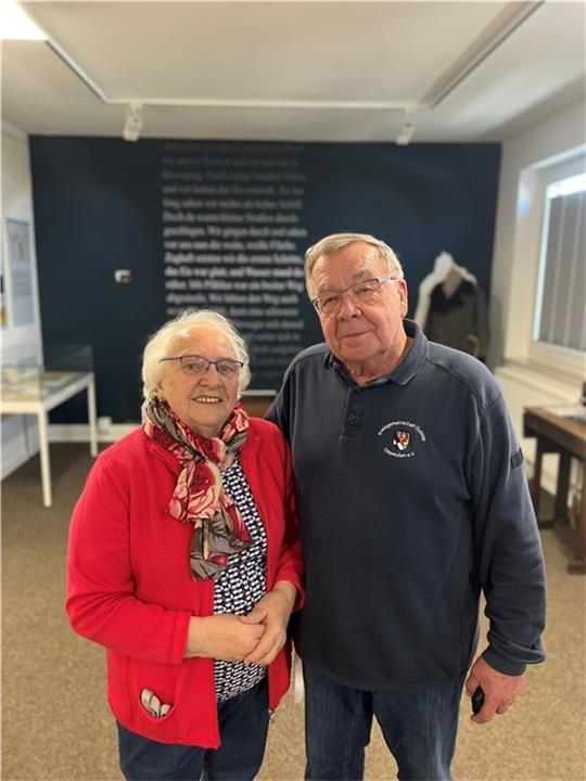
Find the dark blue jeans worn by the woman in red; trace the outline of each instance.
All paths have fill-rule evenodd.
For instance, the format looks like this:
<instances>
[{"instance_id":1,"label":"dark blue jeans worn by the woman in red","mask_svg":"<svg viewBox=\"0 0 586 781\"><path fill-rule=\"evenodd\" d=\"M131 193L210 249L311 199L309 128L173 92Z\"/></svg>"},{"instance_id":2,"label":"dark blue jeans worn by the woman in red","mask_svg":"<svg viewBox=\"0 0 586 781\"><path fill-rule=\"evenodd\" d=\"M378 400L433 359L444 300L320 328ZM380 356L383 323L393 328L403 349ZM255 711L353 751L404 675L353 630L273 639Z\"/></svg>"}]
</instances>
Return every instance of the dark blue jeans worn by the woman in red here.
<instances>
[{"instance_id":1,"label":"dark blue jeans worn by the woman in red","mask_svg":"<svg viewBox=\"0 0 586 781\"><path fill-rule=\"evenodd\" d=\"M127 781L249 781L265 754L269 722L267 679L218 704L219 748L157 743L118 724L120 768Z\"/></svg>"}]
</instances>

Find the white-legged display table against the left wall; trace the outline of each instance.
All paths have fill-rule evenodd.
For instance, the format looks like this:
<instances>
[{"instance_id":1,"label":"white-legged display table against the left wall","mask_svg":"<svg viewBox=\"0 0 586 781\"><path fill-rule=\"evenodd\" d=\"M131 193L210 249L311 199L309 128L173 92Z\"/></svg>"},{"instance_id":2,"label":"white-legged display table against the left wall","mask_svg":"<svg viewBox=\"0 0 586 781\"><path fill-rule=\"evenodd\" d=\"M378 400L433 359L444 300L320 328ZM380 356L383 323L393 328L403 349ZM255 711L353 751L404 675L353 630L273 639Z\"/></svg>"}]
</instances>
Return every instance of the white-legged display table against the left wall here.
<instances>
[{"instance_id":1,"label":"white-legged display table against the left wall","mask_svg":"<svg viewBox=\"0 0 586 781\"><path fill-rule=\"evenodd\" d=\"M81 390L88 394L90 453L98 454L95 386L93 372L44 371L23 372L14 382L1 384L0 413L36 415L39 426L42 503L51 507L51 463L49 461L49 412ZM28 439L28 436L27 436Z\"/></svg>"}]
</instances>

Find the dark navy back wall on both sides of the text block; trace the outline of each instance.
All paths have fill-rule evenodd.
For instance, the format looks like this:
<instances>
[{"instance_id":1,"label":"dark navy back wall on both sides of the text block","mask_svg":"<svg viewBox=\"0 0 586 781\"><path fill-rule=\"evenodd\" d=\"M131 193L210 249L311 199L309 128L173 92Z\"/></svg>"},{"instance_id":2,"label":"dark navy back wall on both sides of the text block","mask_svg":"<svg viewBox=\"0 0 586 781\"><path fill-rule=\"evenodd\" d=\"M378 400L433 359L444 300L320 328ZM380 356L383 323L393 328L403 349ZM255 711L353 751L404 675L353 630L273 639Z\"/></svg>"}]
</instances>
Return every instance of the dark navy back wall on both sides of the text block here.
<instances>
[{"instance_id":1,"label":"dark navy back wall on both sides of the text block","mask_svg":"<svg viewBox=\"0 0 586 781\"><path fill-rule=\"evenodd\" d=\"M30 138L43 341L92 346L99 414L114 422L139 419L144 340L166 319L164 143ZM267 144L258 145L260 153L262 148ZM488 291L498 144L298 148L307 174L307 245L339 231L383 239L404 265L411 312L418 284L442 249ZM243 149L257 154L254 143L241 144L239 155ZM117 268L135 270L131 285L114 283ZM319 340L319 328L309 306L304 313L304 340L309 344ZM84 420L82 407L82 400L73 400L56 411L58 419Z\"/></svg>"}]
</instances>

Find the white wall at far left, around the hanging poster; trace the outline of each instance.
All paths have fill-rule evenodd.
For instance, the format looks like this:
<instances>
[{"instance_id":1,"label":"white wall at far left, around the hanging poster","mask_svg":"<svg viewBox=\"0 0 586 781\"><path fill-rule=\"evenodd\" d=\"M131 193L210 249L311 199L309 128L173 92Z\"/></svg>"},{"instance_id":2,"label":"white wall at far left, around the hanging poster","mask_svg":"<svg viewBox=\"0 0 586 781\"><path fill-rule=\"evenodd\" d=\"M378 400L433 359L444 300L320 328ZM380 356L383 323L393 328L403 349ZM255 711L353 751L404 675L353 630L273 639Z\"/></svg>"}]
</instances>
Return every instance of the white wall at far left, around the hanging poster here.
<instances>
[{"instance_id":1,"label":"white wall at far left, around the hanging poster","mask_svg":"<svg viewBox=\"0 0 586 781\"><path fill-rule=\"evenodd\" d=\"M33 293L35 322L15 327L11 312L11 278L7 219L23 220L30 226L30 258L34 269ZM33 187L27 137L16 128L2 124L2 256L5 283L7 323L1 330L2 366L26 357L42 362L42 341L37 286L37 256L33 217ZM38 449L36 424L33 418L4 415L1 421L2 462L1 477L5 477L24 463Z\"/></svg>"}]
</instances>

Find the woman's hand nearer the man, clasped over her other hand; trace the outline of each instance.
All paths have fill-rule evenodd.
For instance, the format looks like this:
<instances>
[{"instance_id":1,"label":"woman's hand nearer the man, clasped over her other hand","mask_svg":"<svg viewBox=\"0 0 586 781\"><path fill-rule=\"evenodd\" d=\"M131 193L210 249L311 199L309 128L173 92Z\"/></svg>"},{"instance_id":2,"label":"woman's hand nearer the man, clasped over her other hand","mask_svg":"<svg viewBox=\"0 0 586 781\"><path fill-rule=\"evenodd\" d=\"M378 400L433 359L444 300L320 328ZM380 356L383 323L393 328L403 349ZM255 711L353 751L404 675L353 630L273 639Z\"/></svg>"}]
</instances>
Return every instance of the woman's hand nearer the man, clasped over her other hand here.
<instances>
[{"instance_id":1,"label":"woman's hand nearer the man, clasped over her other hand","mask_svg":"<svg viewBox=\"0 0 586 781\"><path fill-rule=\"evenodd\" d=\"M286 625L295 604L297 589L288 580L279 580L258 600L246 616L240 616L242 624L262 626L265 633L244 658L246 664L268 665L283 648L286 640Z\"/></svg>"}]
</instances>

